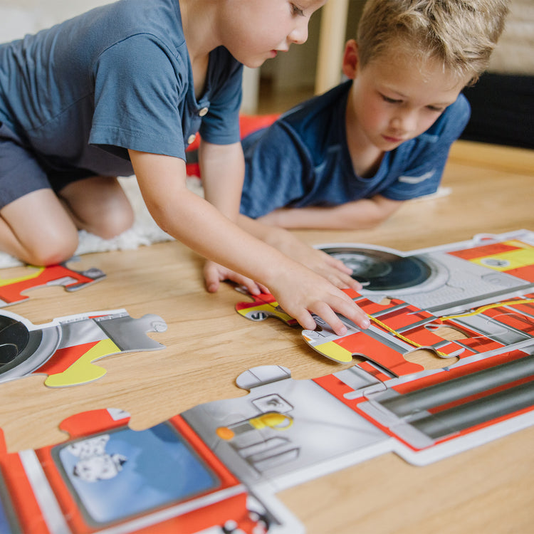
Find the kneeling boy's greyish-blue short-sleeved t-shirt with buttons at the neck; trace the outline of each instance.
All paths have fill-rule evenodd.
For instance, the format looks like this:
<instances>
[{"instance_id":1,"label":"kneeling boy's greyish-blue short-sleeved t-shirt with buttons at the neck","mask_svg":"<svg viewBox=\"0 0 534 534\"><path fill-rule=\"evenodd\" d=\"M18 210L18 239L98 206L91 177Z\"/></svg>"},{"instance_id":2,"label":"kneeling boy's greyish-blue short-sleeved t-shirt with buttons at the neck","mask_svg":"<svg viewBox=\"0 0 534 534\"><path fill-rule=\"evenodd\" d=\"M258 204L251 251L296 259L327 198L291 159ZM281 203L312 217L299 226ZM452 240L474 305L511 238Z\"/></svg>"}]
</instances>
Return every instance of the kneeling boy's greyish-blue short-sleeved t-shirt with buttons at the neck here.
<instances>
[{"instance_id":1,"label":"kneeling boy's greyish-blue short-sleeved t-shirt with buttons at the neck","mask_svg":"<svg viewBox=\"0 0 534 534\"><path fill-rule=\"evenodd\" d=\"M239 142L241 75L216 48L197 100L178 0L120 0L0 46L0 122L48 167L127 175L128 149Z\"/></svg>"}]
</instances>

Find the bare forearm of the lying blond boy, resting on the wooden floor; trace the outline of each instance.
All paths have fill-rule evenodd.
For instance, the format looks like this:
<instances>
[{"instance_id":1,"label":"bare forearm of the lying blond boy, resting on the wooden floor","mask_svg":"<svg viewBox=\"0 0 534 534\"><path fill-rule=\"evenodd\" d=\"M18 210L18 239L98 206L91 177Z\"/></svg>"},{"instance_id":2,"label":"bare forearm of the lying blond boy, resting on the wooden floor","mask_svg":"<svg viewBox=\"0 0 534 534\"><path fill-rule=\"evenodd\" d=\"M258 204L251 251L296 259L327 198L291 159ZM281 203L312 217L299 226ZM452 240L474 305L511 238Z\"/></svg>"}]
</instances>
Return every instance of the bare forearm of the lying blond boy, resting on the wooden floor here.
<instances>
[{"instance_id":1,"label":"bare forearm of the lying blond boy, resting on the wooden floor","mask_svg":"<svg viewBox=\"0 0 534 534\"><path fill-rule=\"evenodd\" d=\"M287 229L362 230L382 223L401 205L402 201L375 195L339 206L276 209L257 220Z\"/></svg>"}]
</instances>

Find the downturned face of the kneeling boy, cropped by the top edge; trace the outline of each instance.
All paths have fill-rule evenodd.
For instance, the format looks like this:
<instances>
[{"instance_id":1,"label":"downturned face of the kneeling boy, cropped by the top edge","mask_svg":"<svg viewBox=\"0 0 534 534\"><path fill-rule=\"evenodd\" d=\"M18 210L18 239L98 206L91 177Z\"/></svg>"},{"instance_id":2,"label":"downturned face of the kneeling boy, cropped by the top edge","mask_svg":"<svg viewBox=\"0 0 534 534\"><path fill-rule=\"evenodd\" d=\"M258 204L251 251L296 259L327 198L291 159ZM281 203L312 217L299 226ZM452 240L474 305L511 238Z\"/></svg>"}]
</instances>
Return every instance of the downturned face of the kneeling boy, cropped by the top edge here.
<instances>
[{"instance_id":1,"label":"downturned face of the kneeling boy, cropped by the top edge","mask_svg":"<svg viewBox=\"0 0 534 534\"><path fill-rule=\"evenodd\" d=\"M228 0L222 11L222 42L247 67L259 67L291 43L308 39L308 22L326 0Z\"/></svg>"}]
</instances>

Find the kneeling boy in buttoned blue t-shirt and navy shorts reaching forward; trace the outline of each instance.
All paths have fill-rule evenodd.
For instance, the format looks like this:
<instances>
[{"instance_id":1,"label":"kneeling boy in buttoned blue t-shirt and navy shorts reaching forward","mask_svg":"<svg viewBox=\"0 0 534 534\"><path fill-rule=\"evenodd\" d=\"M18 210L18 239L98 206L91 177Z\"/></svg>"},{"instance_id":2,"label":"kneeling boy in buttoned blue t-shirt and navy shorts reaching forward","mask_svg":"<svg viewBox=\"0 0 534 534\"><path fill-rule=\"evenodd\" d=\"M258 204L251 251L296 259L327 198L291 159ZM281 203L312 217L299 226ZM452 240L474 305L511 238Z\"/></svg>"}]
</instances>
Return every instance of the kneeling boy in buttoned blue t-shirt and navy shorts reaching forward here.
<instances>
[{"instance_id":1,"label":"kneeling boy in buttoned blue t-shirt and navy shorts reaching forward","mask_svg":"<svg viewBox=\"0 0 534 534\"><path fill-rule=\"evenodd\" d=\"M78 229L119 234L132 209L115 177L135 172L157 224L209 258L209 290L229 278L268 288L303 328L317 313L345 333L335 312L367 327L338 288L359 287L341 263L306 247L313 272L237 224L241 64L303 43L323 4L120 0L1 45L0 250L58 263ZM184 150L197 130L207 201L186 187Z\"/></svg>"}]
</instances>

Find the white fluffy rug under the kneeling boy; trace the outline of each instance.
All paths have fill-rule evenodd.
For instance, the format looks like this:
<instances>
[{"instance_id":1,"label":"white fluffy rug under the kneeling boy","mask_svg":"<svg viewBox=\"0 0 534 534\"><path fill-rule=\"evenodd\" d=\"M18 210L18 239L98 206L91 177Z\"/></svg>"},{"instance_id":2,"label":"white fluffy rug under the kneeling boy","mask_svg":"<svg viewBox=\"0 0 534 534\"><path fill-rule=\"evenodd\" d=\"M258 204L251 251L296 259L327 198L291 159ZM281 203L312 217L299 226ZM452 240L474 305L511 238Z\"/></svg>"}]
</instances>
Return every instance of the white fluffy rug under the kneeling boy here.
<instances>
[{"instance_id":1,"label":"white fluffy rug under the kneeling boy","mask_svg":"<svg viewBox=\"0 0 534 534\"><path fill-rule=\"evenodd\" d=\"M154 219L152 219L141 197L135 177L120 178L120 184L133 206L135 212L134 225L113 239L102 239L94 234L89 234L85 230L81 230L78 233L80 244L78 245L75 256L90 252L131 250L138 246L159 243L160 241L171 241L173 239L169 234L166 234L160 229ZM188 178L187 187L199 195L203 194L199 179L197 178ZM0 252L0 268L20 265L22 263L13 256Z\"/></svg>"}]
</instances>

